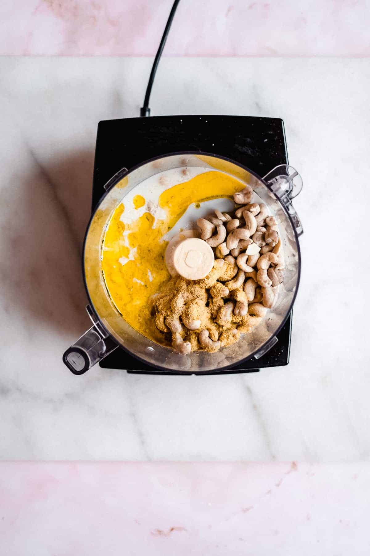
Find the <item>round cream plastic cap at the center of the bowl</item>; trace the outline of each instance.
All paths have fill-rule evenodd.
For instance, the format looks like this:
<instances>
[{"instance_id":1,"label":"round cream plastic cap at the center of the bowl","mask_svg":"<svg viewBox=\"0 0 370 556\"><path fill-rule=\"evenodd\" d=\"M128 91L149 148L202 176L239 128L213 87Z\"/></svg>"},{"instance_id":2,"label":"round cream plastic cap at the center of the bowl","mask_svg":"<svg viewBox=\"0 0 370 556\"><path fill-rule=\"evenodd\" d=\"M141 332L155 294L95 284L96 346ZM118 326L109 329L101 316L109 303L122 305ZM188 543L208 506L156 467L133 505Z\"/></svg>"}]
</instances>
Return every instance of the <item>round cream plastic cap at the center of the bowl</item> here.
<instances>
[{"instance_id":1,"label":"round cream plastic cap at the center of the bowl","mask_svg":"<svg viewBox=\"0 0 370 556\"><path fill-rule=\"evenodd\" d=\"M173 265L176 272L188 280L201 280L211 271L215 256L205 241L189 237L175 247Z\"/></svg>"}]
</instances>

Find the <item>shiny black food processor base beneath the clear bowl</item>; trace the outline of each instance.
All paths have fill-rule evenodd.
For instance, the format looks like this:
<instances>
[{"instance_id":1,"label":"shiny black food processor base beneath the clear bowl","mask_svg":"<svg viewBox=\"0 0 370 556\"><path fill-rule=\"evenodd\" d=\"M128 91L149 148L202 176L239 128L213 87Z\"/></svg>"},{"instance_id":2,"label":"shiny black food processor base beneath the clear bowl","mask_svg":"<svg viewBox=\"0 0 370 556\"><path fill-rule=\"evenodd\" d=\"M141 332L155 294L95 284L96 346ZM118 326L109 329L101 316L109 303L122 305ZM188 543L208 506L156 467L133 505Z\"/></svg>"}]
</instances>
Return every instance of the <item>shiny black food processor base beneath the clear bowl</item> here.
<instances>
[{"instance_id":1,"label":"shiny black food processor base beneath the clear bowl","mask_svg":"<svg viewBox=\"0 0 370 556\"><path fill-rule=\"evenodd\" d=\"M202 151L226 156L263 177L288 163L284 123L280 118L250 116L158 116L99 122L95 150L93 202L121 168L128 170L149 158L178 151ZM277 335L278 342L258 360L252 358L213 374L253 373L289 362L292 314ZM128 373L189 375L186 371L159 371L118 347L99 365ZM209 371L198 375L212 374Z\"/></svg>"}]
</instances>

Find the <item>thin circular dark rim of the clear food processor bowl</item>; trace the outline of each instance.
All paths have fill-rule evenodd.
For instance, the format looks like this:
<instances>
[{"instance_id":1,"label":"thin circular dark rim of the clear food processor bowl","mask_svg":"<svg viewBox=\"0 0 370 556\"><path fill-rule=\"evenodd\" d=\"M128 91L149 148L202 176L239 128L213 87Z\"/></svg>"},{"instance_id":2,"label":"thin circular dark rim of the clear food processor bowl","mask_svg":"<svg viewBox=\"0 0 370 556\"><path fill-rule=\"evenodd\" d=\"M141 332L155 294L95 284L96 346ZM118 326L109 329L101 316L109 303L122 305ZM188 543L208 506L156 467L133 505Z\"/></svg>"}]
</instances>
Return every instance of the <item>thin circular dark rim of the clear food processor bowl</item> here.
<instances>
[{"instance_id":1,"label":"thin circular dark rim of the clear food processor bowl","mask_svg":"<svg viewBox=\"0 0 370 556\"><path fill-rule=\"evenodd\" d=\"M295 287L295 291L293 292L293 296L292 296L292 301L291 304L289 306L289 309L286 311L286 315L285 317L282 319L280 325L277 327L277 329L275 330L275 332L273 332L273 335L271 334L270 337L268 337L268 339L261 345L258 347L258 349L256 349L253 353L251 353L250 355L248 355L247 357L240 359L240 361L237 361L237 363L230 363L229 365L225 365L225 366L220 366L217 367L216 369L212 369L209 371L201 371L202 374L206 375L208 372L209 373L214 373L215 370L217 371L224 371L226 369L230 369L232 367L235 367L235 365L241 365L242 363L244 363L244 361L247 361L249 359L252 359L257 353L259 353L260 351L263 351L266 346L269 344L269 342L271 341L271 337L272 336L276 336L280 330L282 329L282 327L285 325L288 316L291 314L292 311L292 307L293 304L296 300L297 297L297 292L298 292L298 287L300 285L300 279L301 279L301 247L300 247L300 242L298 239L298 234L296 231L296 227L295 224L292 220L292 217L290 216L289 212L286 210L286 207L284 205L284 203L281 201L280 197L278 197L271 189L271 187L268 185L268 183L261 177L259 176L256 172L254 172L253 170L250 170L250 168L248 168L247 166L244 166L243 164L241 164L240 162L236 162L235 160L232 160L232 158L228 158L226 156L222 156L222 155L216 155L215 153L211 153L211 152L205 152L205 151L176 151L176 152L169 152L166 155L159 155L159 156L155 156L153 158L148 158L147 160L143 160L143 162L140 162L139 164L136 164L135 166L131 167L130 170L126 170L126 168L121 168L121 170L119 170L118 172L116 172L111 178L109 178L109 180L107 181L107 183L105 183L104 188L107 189L107 191L104 193L104 195L102 197L100 197L99 202L97 203L97 205L94 207L94 210L92 212L92 215L90 216L86 231L85 231L85 235L84 235L84 242L83 242L83 251L82 251L82 275L83 275L83 282L84 282L84 286L85 286L85 290L87 292L87 296L88 296L88 300L89 300L89 304L92 307L95 315L97 316L98 320L99 320L99 325L102 326L104 328L104 330L107 332L107 334L111 337L113 337L113 339L116 341L116 343L118 344L119 347L121 347L122 349L124 349L124 351L126 351L126 353L128 353L129 355L133 356L135 359L138 359L139 361L141 361L142 363L144 363L145 365L149 365L150 367L153 367L153 369L159 369L162 371L166 371L168 373L170 373L171 371L174 372L178 372L178 369L170 369L168 367L163 367L161 365L152 365L150 363L148 363L148 361L146 361L145 359L141 358L140 355L136 355L135 353L133 353L131 350L128 349L128 347L124 346L121 341L118 339L118 337L116 337L116 335L114 334L114 331L112 333L112 331L108 330L106 326L104 326L102 320L100 319L99 313L98 311L95 309L93 301L90 297L89 294L89 290L88 290L88 286L87 286L87 280L86 280L86 275L85 275L85 247L86 247L86 239L90 230L90 225L92 224L92 221L94 219L94 216L96 214L96 212L99 210L100 205L102 205L105 197L107 197L108 193L111 191L111 188L115 187L115 185L117 183L119 183L125 176L127 176L128 174L130 174L131 172L133 172L134 170L137 170L138 168L140 168L141 166L144 166L145 164L148 164L150 162L154 162L156 160L160 160L161 158L167 158L169 156L183 156L183 155L194 155L194 156L210 156L213 158L220 158L221 160L225 160L226 162L231 162L232 164L239 166L240 168L242 168L242 170L245 170L246 172L250 173L251 175L253 175L254 177L257 178L257 180L260 180L262 183L265 184L265 186L268 188L268 190L270 190L275 199L278 201L278 203L280 203L280 206L282 208L282 210L285 212L285 215L288 217L288 219L291 222L292 225L292 230L293 230L293 234L295 236L295 240L296 240L296 244L297 244L297 254L298 254L298 269L297 269L297 283L296 283L296 287ZM272 168L271 168L272 170ZM211 168L210 168L210 171ZM217 171L217 170L215 170ZM218 170L219 171L219 170ZM127 323L128 324L128 323ZM128 326L130 326L128 324ZM131 328L133 328L131 326ZM133 328L133 330L135 330ZM136 330L136 332L138 332L138 334L140 334L140 332L138 330ZM153 341L153 340L151 340ZM156 342L154 342L156 343ZM161 345L161 344L159 344ZM168 347L169 350L171 350L172 348L169 346L164 346L161 345L161 347ZM271 346L272 347L272 346ZM196 371L189 371L189 374L196 374L200 371L196 370ZM181 371L181 374L186 374L186 371Z\"/></svg>"}]
</instances>

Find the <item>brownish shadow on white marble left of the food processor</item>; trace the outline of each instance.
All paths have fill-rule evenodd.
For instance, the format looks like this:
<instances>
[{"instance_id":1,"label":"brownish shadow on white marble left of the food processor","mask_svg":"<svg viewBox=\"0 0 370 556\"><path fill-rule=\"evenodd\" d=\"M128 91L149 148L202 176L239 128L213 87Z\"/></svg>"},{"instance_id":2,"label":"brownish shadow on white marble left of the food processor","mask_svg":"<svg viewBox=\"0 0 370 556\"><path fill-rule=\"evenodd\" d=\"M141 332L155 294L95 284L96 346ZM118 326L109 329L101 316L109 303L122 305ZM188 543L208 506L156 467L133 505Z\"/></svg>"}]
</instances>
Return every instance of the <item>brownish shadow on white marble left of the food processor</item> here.
<instances>
[{"instance_id":1,"label":"brownish shadow on white marble left of the food processor","mask_svg":"<svg viewBox=\"0 0 370 556\"><path fill-rule=\"evenodd\" d=\"M82 279L81 252L90 216L92 151L75 152L22 171L10 192L3 237L6 315L35 327L81 335L90 321ZM30 339L30 338L29 338Z\"/></svg>"}]
</instances>

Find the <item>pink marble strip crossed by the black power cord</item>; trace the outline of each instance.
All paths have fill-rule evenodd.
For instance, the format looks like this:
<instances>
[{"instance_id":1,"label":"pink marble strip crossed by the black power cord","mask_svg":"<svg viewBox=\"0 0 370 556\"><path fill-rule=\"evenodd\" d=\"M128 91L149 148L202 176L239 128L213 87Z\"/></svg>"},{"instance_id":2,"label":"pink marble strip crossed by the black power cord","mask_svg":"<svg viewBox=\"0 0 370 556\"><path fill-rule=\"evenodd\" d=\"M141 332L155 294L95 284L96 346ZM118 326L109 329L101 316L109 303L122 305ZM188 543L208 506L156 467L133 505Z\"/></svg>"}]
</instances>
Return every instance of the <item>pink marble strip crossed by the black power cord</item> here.
<instances>
[{"instance_id":1,"label":"pink marble strip crossed by the black power cord","mask_svg":"<svg viewBox=\"0 0 370 556\"><path fill-rule=\"evenodd\" d=\"M153 56L173 0L13 0L0 53ZM368 56L367 0L181 0L168 56Z\"/></svg>"}]
</instances>

